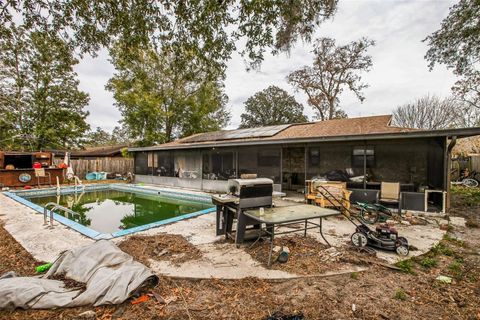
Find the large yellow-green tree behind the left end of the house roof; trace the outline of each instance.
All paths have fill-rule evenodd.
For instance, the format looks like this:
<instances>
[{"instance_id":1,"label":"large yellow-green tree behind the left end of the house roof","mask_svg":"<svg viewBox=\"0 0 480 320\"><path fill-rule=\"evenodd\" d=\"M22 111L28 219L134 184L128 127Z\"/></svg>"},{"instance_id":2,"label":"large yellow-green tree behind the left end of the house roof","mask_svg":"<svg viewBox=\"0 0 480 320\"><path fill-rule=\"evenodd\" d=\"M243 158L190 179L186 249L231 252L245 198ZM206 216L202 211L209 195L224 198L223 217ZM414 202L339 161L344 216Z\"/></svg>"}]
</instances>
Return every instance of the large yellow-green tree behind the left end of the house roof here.
<instances>
[{"instance_id":1,"label":"large yellow-green tree behind the left end of the house roof","mask_svg":"<svg viewBox=\"0 0 480 320\"><path fill-rule=\"evenodd\" d=\"M126 50L119 44L112 51L117 72L107 88L138 144L165 143L226 125L223 72L213 73L186 49L182 54L167 47Z\"/></svg>"}]
</instances>

